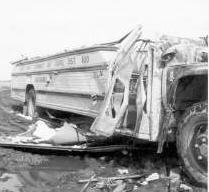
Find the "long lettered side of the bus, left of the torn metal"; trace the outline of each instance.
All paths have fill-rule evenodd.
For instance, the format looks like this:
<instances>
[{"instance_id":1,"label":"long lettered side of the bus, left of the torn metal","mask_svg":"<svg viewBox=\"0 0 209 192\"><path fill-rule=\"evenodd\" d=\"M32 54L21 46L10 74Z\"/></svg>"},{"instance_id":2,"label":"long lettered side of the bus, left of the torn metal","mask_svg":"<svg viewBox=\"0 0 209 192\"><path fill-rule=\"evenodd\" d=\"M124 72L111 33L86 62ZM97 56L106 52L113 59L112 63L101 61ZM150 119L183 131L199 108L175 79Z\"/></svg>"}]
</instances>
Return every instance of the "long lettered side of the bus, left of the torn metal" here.
<instances>
[{"instance_id":1,"label":"long lettered side of the bus, left of the torn metal","mask_svg":"<svg viewBox=\"0 0 209 192\"><path fill-rule=\"evenodd\" d=\"M106 92L108 64L115 53L99 49L20 62L13 68L12 96L24 101L30 84L38 106L96 116Z\"/></svg>"}]
</instances>

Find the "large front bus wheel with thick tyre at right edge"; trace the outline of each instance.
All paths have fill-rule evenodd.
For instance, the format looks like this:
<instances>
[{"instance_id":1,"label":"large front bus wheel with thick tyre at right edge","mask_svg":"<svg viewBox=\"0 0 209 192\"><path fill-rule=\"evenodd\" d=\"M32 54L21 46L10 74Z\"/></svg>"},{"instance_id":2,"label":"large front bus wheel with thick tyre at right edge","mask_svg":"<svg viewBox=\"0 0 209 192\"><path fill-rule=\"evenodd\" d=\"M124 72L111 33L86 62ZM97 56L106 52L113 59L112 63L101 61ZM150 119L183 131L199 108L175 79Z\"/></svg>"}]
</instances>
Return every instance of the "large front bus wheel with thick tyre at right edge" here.
<instances>
[{"instance_id":1,"label":"large front bus wheel with thick tyre at right edge","mask_svg":"<svg viewBox=\"0 0 209 192\"><path fill-rule=\"evenodd\" d=\"M208 170L208 110L207 103L189 107L179 123L177 150L189 178L207 186Z\"/></svg>"}]
</instances>

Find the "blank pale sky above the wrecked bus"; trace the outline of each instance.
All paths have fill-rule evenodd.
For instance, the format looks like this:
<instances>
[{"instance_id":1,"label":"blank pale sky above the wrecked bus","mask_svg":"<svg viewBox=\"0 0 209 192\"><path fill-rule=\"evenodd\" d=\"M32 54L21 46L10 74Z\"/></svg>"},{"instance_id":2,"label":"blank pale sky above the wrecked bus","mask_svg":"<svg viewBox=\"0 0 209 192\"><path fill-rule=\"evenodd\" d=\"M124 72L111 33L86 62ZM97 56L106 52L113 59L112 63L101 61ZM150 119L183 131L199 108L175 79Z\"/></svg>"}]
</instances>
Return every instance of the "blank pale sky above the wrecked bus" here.
<instances>
[{"instance_id":1,"label":"blank pale sky above the wrecked bus","mask_svg":"<svg viewBox=\"0 0 209 192\"><path fill-rule=\"evenodd\" d=\"M138 24L147 33L209 33L208 0L0 0L0 80L11 62L120 39Z\"/></svg>"}]
</instances>

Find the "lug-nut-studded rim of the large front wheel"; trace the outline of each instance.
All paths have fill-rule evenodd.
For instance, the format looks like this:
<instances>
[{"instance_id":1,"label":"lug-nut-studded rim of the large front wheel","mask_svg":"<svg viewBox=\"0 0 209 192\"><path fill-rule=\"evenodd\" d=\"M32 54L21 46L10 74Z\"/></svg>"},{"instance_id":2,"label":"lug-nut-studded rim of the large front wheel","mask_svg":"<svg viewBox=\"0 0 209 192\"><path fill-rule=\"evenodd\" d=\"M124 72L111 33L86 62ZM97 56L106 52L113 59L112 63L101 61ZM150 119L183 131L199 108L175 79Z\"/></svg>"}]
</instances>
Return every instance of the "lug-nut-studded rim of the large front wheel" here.
<instances>
[{"instance_id":1,"label":"lug-nut-studded rim of the large front wheel","mask_svg":"<svg viewBox=\"0 0 209 192\"><path fill-rule=\"evenodd\" d=\"M201 170L207 173L208 170L208 128L203 122L195 126L194 135L190 143L193 159Z\"/></svg>"}]
</instances>

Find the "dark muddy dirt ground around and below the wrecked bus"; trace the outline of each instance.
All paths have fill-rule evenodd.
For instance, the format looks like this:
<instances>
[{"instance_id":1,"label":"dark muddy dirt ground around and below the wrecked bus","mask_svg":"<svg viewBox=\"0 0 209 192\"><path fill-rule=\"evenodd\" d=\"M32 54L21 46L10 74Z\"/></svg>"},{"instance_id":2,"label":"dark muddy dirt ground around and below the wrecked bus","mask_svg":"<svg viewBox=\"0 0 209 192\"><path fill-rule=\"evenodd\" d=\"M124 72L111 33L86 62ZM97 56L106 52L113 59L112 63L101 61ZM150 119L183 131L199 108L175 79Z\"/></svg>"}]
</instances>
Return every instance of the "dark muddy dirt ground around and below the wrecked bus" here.
<instances>
[{"instance_id":1,"label":"dark muddy dirt ground around and below the wrecked bus","mask_svg":"<svg viewBox=\"0 0 209 192\"><path fill-rule=\"evenodd\" d=\"M8 88L0 89L0 135L24 132L31 124L31 121L16 115L21 107L9 94ZM161 179L145 185L137 185L138 181L129 180L124 191L179 191L176 184L178 182L172 183L167 177L171 173L176 178L180 177L177 180L192 187L193 191L207 191L187 183L175 148L170 148L161 155L155 152L155 148L143 148L96 155L44 154L0 148L0 191L77 192L84 186L78 183L79 179L88 179L93 174L97 177L118 176L122 172L158 173L161 176Z\"/></svg>"}]
</instances>

